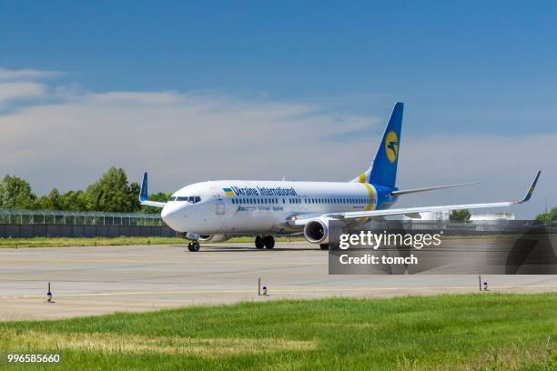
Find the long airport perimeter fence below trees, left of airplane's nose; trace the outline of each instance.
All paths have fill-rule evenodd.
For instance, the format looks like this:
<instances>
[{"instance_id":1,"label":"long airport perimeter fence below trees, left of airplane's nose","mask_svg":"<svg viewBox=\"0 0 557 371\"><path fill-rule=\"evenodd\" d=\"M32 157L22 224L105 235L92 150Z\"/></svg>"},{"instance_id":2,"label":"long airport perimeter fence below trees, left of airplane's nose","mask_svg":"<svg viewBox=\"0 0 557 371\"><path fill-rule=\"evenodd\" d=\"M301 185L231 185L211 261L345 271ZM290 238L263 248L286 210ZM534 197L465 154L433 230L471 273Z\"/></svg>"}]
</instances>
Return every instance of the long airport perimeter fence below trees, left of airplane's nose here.
<instances>
[{"instance_id":1,"label":"long airport perimeter fence below trees, left of airplane's nose","mask_svg":"<svg viewBox=\"0 0 557 371\"><path fill-rule=\"evenodd\" d=\"M0 237L176 236L157 214L0 209Z\"/></svg>"}]
</instances>

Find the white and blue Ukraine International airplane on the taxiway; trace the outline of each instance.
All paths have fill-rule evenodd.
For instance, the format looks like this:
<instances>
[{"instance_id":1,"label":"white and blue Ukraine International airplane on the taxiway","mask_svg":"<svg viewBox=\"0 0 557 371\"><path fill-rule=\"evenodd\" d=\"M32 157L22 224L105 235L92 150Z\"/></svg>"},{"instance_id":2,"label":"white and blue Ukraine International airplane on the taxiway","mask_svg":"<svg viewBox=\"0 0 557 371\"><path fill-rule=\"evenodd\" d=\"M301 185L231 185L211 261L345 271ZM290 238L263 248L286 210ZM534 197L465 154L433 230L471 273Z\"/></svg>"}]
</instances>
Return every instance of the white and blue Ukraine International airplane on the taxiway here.
<instances>
[{"instance_id":1,"label":"white and blue Ukraine International airplane on the taxiway","mask_svg":"<svg viewBox=\"0 0 557 371\"><path fill-rule=\"evenodd\" d=\"M274 236L301 234L321 249L329 249L329 221L348 227L382 216L418 216L421 212L505 207L527 202L541 171L520 201L448 206L390 208L400 196L471 183L400 190L396 186L403 103L397 103L368 170L349 182L218 180L185 186L167 202L148 200L147 173L143 176L141 205L162 208L163 221L190 240L223 242L234 236L255 236L258 249L275 246Z\"/></svg>"}]
</instances>

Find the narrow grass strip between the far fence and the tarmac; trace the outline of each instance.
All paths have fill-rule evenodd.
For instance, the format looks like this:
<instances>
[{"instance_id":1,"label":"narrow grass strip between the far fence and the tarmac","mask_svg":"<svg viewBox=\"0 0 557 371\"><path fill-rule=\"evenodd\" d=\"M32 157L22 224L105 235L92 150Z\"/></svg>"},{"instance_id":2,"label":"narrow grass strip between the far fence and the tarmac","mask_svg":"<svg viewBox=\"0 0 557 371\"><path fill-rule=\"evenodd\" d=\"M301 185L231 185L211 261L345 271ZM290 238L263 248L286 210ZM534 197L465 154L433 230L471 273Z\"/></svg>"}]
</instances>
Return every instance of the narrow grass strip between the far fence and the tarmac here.
<instances>
[{"instance_id":1,"label":"narrow grass strip between the far fence and the tarmac","mask_svg":"<svg viewBox=\"0 0 557 371\"><path fill-rule=\"evenodd\" d=\"M277 242L285 242L286 237L276 238ZM291 241L305 241L303 237L291 238ZM228 243L253 243L253 237L237 237ZM0 238L0 248L20 247L63 247L63 246L127 246L127 245L186 245L187 240L176 237L34 237L34 238ZM203 244L203 243L202 243ZM213 243L210 243L213 244Z\"/></svg>"}]
</instances>

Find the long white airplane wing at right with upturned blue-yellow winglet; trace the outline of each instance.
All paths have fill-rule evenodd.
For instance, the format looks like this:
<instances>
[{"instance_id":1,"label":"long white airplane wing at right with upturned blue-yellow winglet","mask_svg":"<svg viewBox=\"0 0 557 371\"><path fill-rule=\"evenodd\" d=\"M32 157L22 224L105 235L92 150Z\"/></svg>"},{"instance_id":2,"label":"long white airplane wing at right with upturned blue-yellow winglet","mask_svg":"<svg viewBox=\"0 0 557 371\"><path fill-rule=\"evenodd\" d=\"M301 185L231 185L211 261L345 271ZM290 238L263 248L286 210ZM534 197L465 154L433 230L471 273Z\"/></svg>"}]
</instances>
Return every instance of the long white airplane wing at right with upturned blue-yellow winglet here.
<instances>
[{"instance_id":1,"label":"long white airplane wing at right with upturned blue-yellow winglet","mask_svg":"<svg viewBox=\"0 0 557 371\"><path fill-rule=\"evenodd\" d=\"M371 216L400 216L400 215L408 215L408 214L417 214L423 213L427 211L443 211L443 210L461 210L461 209L479 209L479 208L488 208L488 207L505 207L511 206L516 204L523 204L530 200L532 197L532 193L538 183L538 178L542 174L542 171L538 171L534 181L532 182L532 186L530 186L526 196L522 198L520 201L505 201L505 202L495 202L495 203L488 203L488 204L462 204L462 205L446 205L446 206L420 206L420 207L406 207L406 208L395 208L395 209L385 209L385 210L372 210L372 211L349 211L346 213L329 213L324 214L322 216L328 216L334 219L354 219L360 217L371 217ZM312 217L307 216L293 216L291 220L291 224L295 226L305 226Z\"/></svg>"}]
</instances>

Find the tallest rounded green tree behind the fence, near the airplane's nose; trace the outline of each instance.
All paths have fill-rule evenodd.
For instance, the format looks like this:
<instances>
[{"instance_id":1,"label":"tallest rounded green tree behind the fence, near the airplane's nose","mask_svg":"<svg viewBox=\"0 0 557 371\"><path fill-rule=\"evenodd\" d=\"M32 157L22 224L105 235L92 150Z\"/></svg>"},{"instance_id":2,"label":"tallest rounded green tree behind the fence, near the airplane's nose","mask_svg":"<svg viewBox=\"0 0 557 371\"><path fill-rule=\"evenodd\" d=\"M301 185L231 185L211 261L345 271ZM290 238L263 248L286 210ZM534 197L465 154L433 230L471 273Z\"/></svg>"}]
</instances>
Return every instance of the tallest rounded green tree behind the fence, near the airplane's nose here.
<instances>
[{"instance_id":1,"label":"tallest rounded green tree behind the fence, near the airplane's nose","mask_svg":"<svg viewBox=\"0 0 557 371\"><path fill-rule=\"evenodd\" d=\"M87 187L87 209L105 212L133 212L138 206L139 186L130 186L124 169L110 167L94 184Z\"/></svg>"}]
</instances>

